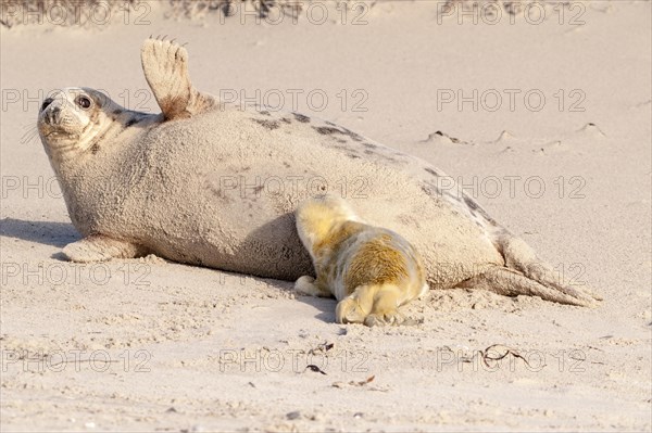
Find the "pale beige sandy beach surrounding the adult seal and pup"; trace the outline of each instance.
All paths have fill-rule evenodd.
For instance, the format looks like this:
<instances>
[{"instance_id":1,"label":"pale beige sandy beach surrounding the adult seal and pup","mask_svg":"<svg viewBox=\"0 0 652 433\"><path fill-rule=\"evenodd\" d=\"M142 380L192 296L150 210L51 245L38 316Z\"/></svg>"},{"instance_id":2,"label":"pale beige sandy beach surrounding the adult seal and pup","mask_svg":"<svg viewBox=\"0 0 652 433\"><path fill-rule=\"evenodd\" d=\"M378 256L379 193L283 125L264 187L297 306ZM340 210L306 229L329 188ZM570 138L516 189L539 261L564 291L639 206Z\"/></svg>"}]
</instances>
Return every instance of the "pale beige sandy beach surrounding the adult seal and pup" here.
<instances>
[{"instance_id":1,"label":"pale beige sandy beach surrounding the adult seal and pup","mask_svg":"<svg viewBox=\"0 0 652 433\"><path fill-rule=\"evenodd\" d=\"M2 431L650 431L651 4L570 7L538 25L426 1L272 25L151 3L111 26L2 28ZM410 306L422 324L367 329L290 282L62 260L79 234L34 135L40 101L88 86L155 111L152 34L188 42L200 89L280 93L436 164L605 301L432 292Z\"/></svg>"}]
</instances>

